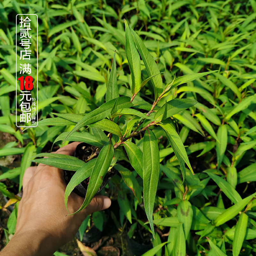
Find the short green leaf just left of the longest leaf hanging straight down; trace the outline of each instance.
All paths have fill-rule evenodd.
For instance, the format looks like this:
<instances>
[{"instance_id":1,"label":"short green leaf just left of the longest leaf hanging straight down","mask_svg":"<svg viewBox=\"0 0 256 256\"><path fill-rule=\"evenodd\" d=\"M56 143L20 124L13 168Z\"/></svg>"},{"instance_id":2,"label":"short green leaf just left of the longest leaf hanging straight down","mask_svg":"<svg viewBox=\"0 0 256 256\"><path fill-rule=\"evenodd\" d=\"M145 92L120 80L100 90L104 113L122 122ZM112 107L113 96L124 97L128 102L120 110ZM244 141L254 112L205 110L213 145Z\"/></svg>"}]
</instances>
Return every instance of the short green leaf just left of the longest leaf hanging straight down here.
<instances>
[{"instance_id":1,"label":"short green leaf just left of the longest leaf hanging straight down","mask_svg":"<svg viewBox=\"0 0 256 256\"><path fill-rule=\"evenodd\" d=\"M140 177L143 178L143 157L140 148L138 148L138 146L131 141L125 141L123 144L132 167L140 175Z\"/></svg>"}]
</instances>

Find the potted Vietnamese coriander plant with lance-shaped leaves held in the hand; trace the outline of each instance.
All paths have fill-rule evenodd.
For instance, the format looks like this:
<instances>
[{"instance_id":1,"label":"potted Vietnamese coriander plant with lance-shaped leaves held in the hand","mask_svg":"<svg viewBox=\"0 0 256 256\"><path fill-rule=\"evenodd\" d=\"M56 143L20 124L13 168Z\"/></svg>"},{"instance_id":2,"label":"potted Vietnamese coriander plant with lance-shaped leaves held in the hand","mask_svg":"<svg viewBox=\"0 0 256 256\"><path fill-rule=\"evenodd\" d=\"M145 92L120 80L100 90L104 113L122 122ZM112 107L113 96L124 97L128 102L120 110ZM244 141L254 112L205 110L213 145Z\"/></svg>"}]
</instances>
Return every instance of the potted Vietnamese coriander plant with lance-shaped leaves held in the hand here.
<instances>
[{"instance_id":1,"label":"potted Vietnamese coriander plant with lance-shaped leaves held in the hand","mask_svg":"<svg viewBox=\"0 0 256 256\"><path fill-rule=\"evenodd\" d=\"M90 177L84 203L78 211L70 213L75 214L90 204L92 198L99 191L105 175L112 167L120 172L125 184L132 189L134 200L137 204L142 204L142 193L138 180L130 170L118 162L118 160L129 161L143 180L143 203L153 237L155 238L153 210L160 172L159 148L154 133L156 126L160 126L166 134L169 146L172 147L179 161L183 181L186 178L185 164L193 173L187 152L176 131L177 124L172 116L194 106L197 101L182 98L167 101L164 98L178 85L196 80L215 71L180 76L179 78L174 78L164 87L161 73L155 60L148 52L141 38L128 26L126 21L125 54L131 71L131 97L119 96L115 52L104 104L86 114L52 113L57 117L44 119L38 123L39 126L74 125L70 132L60 134L54 143L60 140L63 140L63 142L66 140L85 142L94 147L92 154L85 161L82 161L75 156L41 153L35 157L47 156L48 158L36 159L34 162L75 172L67 185L65 193L67 210L70 193L78 184ZM143 82L141 82L141 67L144 68L144 66L140 57L148 73L148 78ZM140 92L140 89L148 82L152 83L154 88L154 103L151 105L147 101L137 101L133 104L133 100ZM160 100L163 102L163 99L165 103L159 107L158 102ZM124 115L132 116L125 124L122 121L122 116ZM85 131L79 132L79 129L83 127L86 128ZM90 128L90 132L86 131L87 127ZM141 140L140 147L134 143L134 140L138 139ZM120 163L122 162L120 161ZM124 201L128 200L121 190L119 190L118 198L122 198ZM184 201L184 204L186 203L189 204L188 201ZM129 209L125 210L125 204L123 206L124 214L132 223L131 211ZM185 208L186 205L184 205Z\"/></svg>"}]
</instances>

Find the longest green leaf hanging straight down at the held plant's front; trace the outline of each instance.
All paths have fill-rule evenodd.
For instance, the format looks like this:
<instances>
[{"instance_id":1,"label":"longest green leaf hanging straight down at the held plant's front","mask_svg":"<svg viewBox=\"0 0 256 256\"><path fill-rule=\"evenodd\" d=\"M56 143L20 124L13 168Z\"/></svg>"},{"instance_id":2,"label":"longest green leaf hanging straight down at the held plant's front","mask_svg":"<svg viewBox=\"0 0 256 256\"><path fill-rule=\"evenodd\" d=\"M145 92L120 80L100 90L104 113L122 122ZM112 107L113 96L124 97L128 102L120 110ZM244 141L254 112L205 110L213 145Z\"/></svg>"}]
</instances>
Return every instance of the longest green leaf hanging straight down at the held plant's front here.
<instances>
[{"instance_id":1,"label":"longest green leaf hanging straight down at the held plant's front","mask_svg":"<svg viewBox=\"0 0 256 256\"><path fill-rule=\"evenodd\" d=\"M153 210L160 172L159 159L156 136L151 130L147 130L143 137L143 198L153 237L155 237Z\"/></svg>"}]
</instances>

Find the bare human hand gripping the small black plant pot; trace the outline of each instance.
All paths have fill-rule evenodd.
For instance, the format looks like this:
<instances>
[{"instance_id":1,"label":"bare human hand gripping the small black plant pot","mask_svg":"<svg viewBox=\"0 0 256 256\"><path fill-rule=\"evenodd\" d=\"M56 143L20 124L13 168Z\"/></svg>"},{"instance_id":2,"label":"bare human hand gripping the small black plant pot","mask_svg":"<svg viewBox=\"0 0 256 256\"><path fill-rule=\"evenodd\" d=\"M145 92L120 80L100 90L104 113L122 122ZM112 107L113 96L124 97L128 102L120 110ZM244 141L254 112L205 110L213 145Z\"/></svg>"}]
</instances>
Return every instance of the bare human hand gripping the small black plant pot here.
<instances>
[{"instance_id":1,"label":"bare human hand gripping the small black plant pot","mask_svg":"<svg viewBox=\"0 0 256 256\"><path fill-rule=\"evenodd\" d=\"M73 155L78 144L73 142L55 153ZM107 209L111 204L107 196L95 196L83 211L67 215L64 203L66 187L63 170L56 167L39 164L25 171L14 240L35 234L39 243L47 241L51 244L50 253L53 253L75 236L87 215ZM69 212L76 212L83 202L84 198L72 192L68 199Z\"/></svg>"}]
</instances>

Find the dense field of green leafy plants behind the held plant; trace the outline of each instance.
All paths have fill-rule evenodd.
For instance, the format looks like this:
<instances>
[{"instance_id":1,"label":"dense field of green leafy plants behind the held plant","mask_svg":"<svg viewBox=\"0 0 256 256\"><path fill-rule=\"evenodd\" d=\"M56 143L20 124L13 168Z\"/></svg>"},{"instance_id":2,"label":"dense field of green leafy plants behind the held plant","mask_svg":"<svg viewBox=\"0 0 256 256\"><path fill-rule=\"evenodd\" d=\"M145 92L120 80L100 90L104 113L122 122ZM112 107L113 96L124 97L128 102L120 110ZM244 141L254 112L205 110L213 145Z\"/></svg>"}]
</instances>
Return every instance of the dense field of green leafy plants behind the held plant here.
<instances>
[{"instance_id":1,"label":"dense field of green leafy plants behind the held plant","mask_svg":"<svg viewBox=\"0 0 256 256\"><path fill-rule=\"evenodd\" d=\"M18 206L16 203L11 213L10 207L4 208L4 196L13 200L9 204L19 200L19 180L31 164L28 159L36 153L50 152L57 136L73 127L39 126L22 133L14 124L18 13L38 15L39 120L54 117L51 112L87 113L104 103L115 50L119 94L132 96L124 51L124 18L144 39L160 72L164 72L164 84L175 75L219 70L178 86L168 96L168 100L198 101L173 116L196 173L193 176L187 170L182 186L179 162L171 148L165 149L165 134L158 127L153 130L159 142L161 174L153 216L156 240L147 255L254 255L256 202L251 201L251 195L256 181L255 0L0 1L2 246L15 232ZM31 47L35 51L36 45ZM31 62L36 68L36 59ZM145 80L148 74L142 61L141 69ZM36 69L32 72L35 74ZM150 82L133 103L137 101L153 103ZM160 101L159 106L164 103ZM139 147L141 141L135 141ZM124 201L116 198L115 182L127 195ZM147 219L139 214L139 205L134 211L134 204L129 203L134 195L121 177L111 181L106 191L111 191L113 200L123 209L114 220L119 245L113 247L130 255L124 237L138 231L151 237L149 225L144 224ZM184 211L188 213L185 217ZM115 219L109 212L97 213L88 223L102 229L107 214ZM127 216L131 216L132 225ZM62 252L70 254L67 247ZM78 251L72 253L79 255Z\"/></svg>"}]
</instances>

